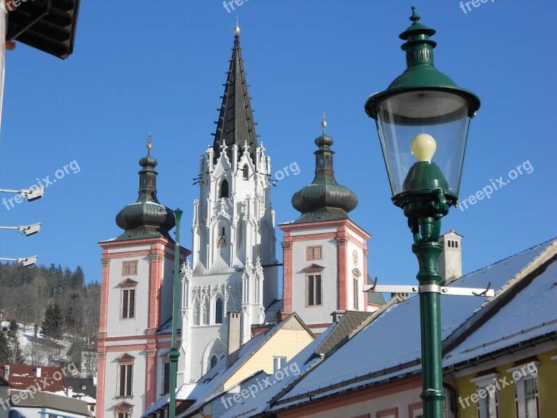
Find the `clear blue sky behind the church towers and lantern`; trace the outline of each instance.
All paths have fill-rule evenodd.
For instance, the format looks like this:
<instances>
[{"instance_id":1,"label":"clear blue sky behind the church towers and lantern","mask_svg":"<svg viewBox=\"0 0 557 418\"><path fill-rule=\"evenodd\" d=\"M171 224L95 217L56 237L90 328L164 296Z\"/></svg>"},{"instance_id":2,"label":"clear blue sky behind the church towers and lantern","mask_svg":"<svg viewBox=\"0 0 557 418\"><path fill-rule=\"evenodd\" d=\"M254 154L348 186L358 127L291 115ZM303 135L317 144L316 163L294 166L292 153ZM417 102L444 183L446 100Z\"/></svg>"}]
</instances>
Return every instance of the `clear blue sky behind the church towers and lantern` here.
<instances>
[{"instance_id":1,"label":"clear blue sky behind the church towers and lantern","mask_svg":"<svg viewBox=\"0 0 557 418\"><path fill-rule=\"evenodd\" d=\"M463 270L471 272L557 235L557 3L495 0L466 13L454 0L414 3L421 22L437 30L437 68L482 100L461 199L501 176L510 180L443 220L443 231L464 235ZM277 222L299 216L290 199L313 180L313 140L326 109L336 178L359 196L350 217L372 235L368 271L383 284L414 284L411 234L391 203L375 124L363 111L368 95L405 69L398 34L409 26L412 4L246 0L228 13L221 1L135 0L133 9L124 1L84 1L68 60L21 44L6 53L0 187L61 178L43 199L0 206L3 225L42 222L29 238L0 231L0 255L79 264L88 281L100 281L97 242L120 234L114 217L136 200L148 132L159 160L159 201L185 211L182 244L191 248L199 194L192 178L212 144L237 13L272 170L299 167L272 189ZM68 173L57 171L71 162ZM280 242L281 231L277 236ZM280 244L276 251L282 258Z\"/></svg>"}]
</instances>

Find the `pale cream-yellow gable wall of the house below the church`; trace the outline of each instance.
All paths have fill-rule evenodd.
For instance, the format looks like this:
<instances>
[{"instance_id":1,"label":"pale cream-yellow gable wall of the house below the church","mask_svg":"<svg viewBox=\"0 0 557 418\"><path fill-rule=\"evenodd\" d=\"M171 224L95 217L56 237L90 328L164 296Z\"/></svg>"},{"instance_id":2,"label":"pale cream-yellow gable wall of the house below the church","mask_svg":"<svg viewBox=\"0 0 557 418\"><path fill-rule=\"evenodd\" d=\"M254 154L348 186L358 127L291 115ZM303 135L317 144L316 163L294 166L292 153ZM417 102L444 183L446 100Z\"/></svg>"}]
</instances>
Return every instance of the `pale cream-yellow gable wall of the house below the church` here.
<instances>
[{"instance_id":1,"label":"pale cream-yellow gable wall of the house below the church","mask_svg":"<svg viewBox=\"0 0 557 418\"><path fill-rule=\"evenodd\" d=\"M313 336L297 320L292 318L269 341L263 344L246 364L241 366L240 369L224 382L224 389L236 385L260 370L272 374L273 357L286 357L286 361L289 362L292 357L297 355L311 341L313 341ZM292 372L292 369L289 370Z\"/></svg>"}]
</instances>

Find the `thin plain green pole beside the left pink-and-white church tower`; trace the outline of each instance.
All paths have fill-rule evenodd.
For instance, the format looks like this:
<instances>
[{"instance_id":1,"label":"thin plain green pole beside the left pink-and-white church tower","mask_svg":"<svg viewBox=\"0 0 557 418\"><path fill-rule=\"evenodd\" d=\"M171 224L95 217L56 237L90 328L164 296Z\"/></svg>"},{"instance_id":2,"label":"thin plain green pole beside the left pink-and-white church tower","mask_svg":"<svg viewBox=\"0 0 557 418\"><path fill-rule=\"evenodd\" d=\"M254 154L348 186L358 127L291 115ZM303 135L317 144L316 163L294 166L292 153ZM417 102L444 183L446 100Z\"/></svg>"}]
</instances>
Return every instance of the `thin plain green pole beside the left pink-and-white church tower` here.
<instances>
[{"instance_id":1,"label":"thin plain green pole beside the left pink-and-white church tower","mask_svg":"<svg viewBox=\"0 0 557 418\"><path fill-rule=\"evenodd\" d=\"M174 210L176 218L176 242L174 249L174 299L172 309L172 347L168 357L170 358L170 400L168 401L168 417L176 416L176 378L178 375L178 292L180 291L180 218L183 211L180 208Z\"/></svg>"}]
</instances>

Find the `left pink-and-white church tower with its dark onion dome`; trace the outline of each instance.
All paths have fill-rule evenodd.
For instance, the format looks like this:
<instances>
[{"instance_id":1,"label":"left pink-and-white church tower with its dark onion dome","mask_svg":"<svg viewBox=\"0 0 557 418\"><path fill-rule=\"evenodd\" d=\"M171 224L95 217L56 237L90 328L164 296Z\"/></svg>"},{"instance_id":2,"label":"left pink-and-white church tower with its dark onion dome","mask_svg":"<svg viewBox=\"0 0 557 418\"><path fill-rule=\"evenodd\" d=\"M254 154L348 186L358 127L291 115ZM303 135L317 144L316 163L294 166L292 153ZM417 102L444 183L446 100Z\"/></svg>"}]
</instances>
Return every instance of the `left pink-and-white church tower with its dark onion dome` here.
<instances>
[{"instance_id":1,"label":"left pink-and-white church tower with its dark onion dome","mask_svg":"<svg viewBox=\"0 0 557 418\"><path fill-rule=\"evenodd\" d=\"M99 243L97 417L141 417L159 394L168 393L175 257L169 231L175 217L157 200L150 136L147 148L139 160L139 197L116 216L124 232ZM188 255L180 248L180 260Z\"/></svg>"}]
</instances>

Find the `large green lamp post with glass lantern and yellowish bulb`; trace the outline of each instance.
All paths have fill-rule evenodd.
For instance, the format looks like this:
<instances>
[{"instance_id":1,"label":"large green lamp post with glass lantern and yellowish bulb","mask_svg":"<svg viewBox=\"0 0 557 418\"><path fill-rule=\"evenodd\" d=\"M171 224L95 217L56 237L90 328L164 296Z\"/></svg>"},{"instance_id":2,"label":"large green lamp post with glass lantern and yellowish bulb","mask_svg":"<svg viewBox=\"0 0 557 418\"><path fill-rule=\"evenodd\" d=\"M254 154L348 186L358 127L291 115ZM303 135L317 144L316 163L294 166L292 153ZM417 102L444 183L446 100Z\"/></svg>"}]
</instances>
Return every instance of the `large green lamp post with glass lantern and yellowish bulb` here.
<instances>
[{"instance_id":1,"label":"large green lamp post with glass lantern and yellowish bulb","mask_svg":"<svg viewBox=\"0 0 557 418\"><path fill-rule=\"evenodd\" d=\"M438 260L441 217L456 206L470 121L480 107L471 91L458 87L433 64L435 31L419 23L400 34L407 70L366 102L375 119L391 183L393 203L402 208L414 235L419 264L424 416L443 417L443 369Z\"/></svg>"}]
</instances>

